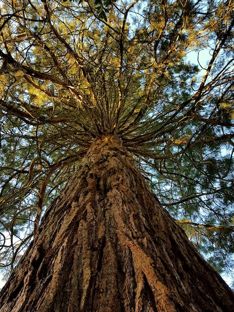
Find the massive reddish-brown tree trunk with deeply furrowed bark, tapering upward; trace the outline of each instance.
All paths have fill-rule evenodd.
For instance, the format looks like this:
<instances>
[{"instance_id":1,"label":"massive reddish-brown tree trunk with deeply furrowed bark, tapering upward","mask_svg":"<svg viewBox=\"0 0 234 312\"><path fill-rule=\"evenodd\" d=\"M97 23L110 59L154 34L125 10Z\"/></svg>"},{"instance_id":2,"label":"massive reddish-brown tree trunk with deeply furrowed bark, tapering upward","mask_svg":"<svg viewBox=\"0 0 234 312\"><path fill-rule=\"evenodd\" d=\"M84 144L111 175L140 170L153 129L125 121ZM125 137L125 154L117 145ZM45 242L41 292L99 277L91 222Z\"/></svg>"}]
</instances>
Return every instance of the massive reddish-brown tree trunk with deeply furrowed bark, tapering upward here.
<instances>
[{"instance_id":1,"label":"massive reddish-brown tree trunk with deeply furrowed bark, tapering upward","mask_svg":"<svg viewBox=\"0 0 234 312\"><path fill-rule=\"evenodd\" d=\"M94 141L0 293L0 312L233 312L234 294L116 136Z\"/></svg>"}]
</instances>

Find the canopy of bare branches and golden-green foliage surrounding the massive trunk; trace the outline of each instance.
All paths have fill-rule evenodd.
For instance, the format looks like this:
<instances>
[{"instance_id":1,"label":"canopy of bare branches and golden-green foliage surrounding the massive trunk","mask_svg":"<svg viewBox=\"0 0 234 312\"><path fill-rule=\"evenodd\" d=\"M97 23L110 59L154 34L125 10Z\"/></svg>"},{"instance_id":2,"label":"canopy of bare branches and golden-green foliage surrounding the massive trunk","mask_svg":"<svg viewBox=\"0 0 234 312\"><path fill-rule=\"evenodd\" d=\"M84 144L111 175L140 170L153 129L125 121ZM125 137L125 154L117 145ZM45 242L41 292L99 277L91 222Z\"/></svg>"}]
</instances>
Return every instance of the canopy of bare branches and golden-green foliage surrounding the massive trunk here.
<instances>
[{"instance_id":1,"label":"canopy of bare branches and golden-green foliage surrounding the massive trunk","mask_svg":"<svg viewBox=\"0 0 234 312\"><path fill-rule=\"evenodd\" d=\"M206 259L232 270L233 28L232 1L0 1L4 271L106 134Z\"/></svg>"}]
</instances>

